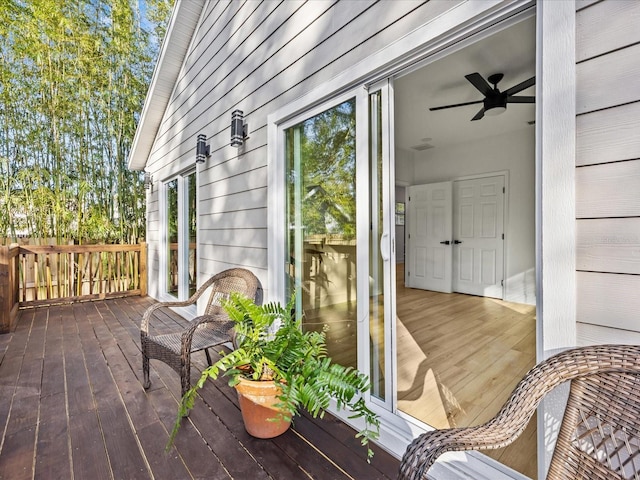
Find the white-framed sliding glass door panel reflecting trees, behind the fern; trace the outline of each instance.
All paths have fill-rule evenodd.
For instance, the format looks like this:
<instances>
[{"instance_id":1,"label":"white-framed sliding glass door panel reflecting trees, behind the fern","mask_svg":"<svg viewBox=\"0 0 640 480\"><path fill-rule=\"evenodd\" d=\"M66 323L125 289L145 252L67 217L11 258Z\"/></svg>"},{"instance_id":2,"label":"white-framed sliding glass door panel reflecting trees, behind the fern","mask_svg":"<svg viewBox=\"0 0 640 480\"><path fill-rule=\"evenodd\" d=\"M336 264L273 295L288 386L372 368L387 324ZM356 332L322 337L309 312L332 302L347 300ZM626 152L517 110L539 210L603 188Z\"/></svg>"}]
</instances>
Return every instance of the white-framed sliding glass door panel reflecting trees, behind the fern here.
<instances>
[{"instance_id":1,"label":"white-framed sliding glass door panel reflecting trees, behind the fern","mask_svg":"<svg viewBox=\"0 0 640 480\"><path fill-rule=\"evenodd\" d=\"M286 290L329 355L369 373L371 401L393 405L395 271L389 85L283 129Z\"/></svg>"}]
</instances>

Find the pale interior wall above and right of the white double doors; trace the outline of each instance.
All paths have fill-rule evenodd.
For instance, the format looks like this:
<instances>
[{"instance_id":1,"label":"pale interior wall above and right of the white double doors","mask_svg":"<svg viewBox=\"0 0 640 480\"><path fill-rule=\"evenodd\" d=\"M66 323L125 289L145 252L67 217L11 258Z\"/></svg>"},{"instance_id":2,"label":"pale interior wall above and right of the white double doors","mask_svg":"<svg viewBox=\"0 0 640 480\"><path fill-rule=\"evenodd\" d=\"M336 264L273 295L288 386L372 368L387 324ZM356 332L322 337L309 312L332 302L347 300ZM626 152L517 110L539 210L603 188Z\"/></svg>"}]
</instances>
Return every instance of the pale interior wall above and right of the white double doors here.
<instances>
[{"instance_id":1,"label":"pale interior wall above and right of the white double doors","mask_svg":"<svg viewBox=\"0 0 640 480\"><path fill-rule=\"evenodd\" d=\"M508 115L508 112L506 113ZM490 118L482 121L491 121ZM409 163L413 157L412 166ZM508 171L505 300L535 304L535 134L534 127L480 141L424 152L396 152L411 185Z\"/></svg>"}]
</instances>

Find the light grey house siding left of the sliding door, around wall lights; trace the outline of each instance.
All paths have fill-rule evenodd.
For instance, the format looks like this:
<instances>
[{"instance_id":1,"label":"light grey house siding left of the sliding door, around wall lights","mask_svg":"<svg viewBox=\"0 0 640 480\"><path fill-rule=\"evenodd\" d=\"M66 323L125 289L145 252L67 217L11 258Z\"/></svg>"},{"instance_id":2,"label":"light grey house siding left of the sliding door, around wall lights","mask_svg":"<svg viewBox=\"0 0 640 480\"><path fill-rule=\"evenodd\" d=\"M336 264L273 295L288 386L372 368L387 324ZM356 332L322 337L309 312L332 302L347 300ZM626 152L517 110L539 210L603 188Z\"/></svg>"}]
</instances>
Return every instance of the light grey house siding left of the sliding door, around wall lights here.
<instances>
[{"instance_id":1,"label":"light grey house siding left of the sliding door, around wall lights","mask_svg":"<svg viewBox=\"0 0 640 480\"><path fill-rule=\"evenodd\" d=\"M211 157L197 167L200 282L242 265L268 290L267 115L455 6L451 1L205 3L146 166L156 182L148 198L150 294L161 294L153 280L160 278L162 239L158 182L194 167L198 134L205 134L211 147ZM250 138L239 149L229 146L235 109L249 125Z\"/></svg>"}]
</instances>

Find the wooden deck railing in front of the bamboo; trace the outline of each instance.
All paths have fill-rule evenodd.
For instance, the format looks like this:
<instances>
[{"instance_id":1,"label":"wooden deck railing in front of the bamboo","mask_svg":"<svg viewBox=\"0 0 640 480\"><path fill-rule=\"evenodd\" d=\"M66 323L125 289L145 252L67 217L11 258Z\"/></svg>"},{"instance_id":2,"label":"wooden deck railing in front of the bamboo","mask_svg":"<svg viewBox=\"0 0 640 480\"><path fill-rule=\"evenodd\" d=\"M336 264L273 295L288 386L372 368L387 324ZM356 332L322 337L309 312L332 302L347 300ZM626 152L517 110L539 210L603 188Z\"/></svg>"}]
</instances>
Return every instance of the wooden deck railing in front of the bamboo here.
<instances>
[{"instance_id":1,"label":"wooden deck railing in front of the bamboo","mask_svg":"<svg viewBox=\"0 0 640 480\"><path fill-rule=\"evenodd\" d=\"M0 333L21 307L147 294L147 247L0 246Z\"/></svg>"}]
</instances>

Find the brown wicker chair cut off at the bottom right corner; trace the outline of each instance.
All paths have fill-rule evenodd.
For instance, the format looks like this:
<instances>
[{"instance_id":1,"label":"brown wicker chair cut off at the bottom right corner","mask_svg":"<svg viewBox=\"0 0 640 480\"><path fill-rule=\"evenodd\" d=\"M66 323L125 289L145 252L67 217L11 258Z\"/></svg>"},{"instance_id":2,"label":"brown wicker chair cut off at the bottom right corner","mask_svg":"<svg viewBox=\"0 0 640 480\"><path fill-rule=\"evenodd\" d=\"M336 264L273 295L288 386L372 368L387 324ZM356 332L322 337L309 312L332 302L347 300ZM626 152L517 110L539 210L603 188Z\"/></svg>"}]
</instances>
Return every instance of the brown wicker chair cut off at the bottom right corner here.
<instances>
[{"instance_id":1,"label":"brown wicker chair cut off at the bottom right corner","mask_svg":"<svg viewBox=\"0 0 640 480\"><path fill-rule=\"evenodd\" d=\"M631 345L576 348L541 362L489 422L417 437L402 458L399 479L427 478L448 451L509 445L544 395L568 380L569 401L547 479L640 479L640 346Z\"/></svg>"}]
</instances>

